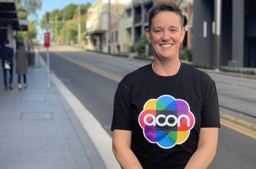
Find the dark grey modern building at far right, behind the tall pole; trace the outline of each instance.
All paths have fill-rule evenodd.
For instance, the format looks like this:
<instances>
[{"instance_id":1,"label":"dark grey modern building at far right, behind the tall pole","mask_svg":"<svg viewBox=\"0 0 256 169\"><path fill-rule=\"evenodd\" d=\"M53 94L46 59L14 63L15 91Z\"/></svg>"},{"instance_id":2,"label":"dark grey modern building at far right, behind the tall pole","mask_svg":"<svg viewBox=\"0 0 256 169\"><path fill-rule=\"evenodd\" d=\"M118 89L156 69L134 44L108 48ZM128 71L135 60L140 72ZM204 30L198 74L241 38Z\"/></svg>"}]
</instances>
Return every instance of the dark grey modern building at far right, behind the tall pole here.
<instances>
[{"instance_id":1,"label":"dark grey modern building at far right, behind the tall pole","mask_svg":"<svg viewBox=\"0 0 256 169\"><path fill-rule=\"evenodd\" d=\"M195 0L193 62L256 67L255 9L255 0Z\"/></svg>"}]
</instances>

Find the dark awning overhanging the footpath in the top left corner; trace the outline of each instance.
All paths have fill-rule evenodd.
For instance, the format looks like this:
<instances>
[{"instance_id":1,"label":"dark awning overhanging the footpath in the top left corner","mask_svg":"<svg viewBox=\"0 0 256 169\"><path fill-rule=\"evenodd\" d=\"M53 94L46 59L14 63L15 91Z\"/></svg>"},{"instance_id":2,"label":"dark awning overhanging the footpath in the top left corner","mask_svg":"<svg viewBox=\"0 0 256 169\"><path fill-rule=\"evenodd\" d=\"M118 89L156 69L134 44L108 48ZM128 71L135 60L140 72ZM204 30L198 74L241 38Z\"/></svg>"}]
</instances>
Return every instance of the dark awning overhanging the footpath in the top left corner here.
<instances>
[{"instance_id":1,"label":"dark awning overhanging the footpath in the top left corner","mask_svg":"<svg viewBox=\"0 0 256 169\"><path fill-rule=\"evenodd\" d=\"M0 0L0 26L11 24L14 30L27 30L28 22L19 21L15 0Z\"/></svg>"}]
</instances>

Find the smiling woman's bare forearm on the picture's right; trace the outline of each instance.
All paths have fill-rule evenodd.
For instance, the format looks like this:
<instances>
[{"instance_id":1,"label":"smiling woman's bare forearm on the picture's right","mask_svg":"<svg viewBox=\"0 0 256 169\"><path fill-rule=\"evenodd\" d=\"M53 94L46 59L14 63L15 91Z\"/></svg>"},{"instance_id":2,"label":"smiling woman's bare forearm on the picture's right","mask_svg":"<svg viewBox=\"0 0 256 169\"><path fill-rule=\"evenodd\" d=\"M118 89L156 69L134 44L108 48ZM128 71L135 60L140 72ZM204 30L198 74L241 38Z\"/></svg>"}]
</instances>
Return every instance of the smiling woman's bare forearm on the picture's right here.
<instances>
[{"instance_id":1,"label":"smiling woman's bare forearm on the picture's right","mask_svg":"<svg viewBox=\"0 0 256 169\"><path fill-rule=\"evenodd\" d=\"M201 128L197 151L192 155L184 169L206 169L216 153L218 128Z\"/></svg>"}]
</instances>

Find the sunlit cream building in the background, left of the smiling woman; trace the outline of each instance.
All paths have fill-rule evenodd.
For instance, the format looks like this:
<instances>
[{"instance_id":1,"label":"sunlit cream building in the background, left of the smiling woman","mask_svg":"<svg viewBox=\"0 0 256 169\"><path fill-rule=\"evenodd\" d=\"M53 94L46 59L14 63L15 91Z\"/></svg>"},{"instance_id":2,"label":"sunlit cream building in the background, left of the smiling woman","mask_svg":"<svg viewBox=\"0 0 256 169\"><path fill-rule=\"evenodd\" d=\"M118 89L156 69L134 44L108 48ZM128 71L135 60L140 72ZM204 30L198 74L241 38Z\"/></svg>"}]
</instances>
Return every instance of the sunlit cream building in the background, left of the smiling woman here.
<instances>
[{"instance_id":1,"label":"sunlit cream building in the background, left of the smiling woman","mask_svg":"<svg viewBox=\"0 0 256 169\"><path fill-rule=\"evenodd\" d=\"M110 15L122 15L129 0L111 0ZM98 0L87 11L88 49L108 52L108 0Z\"/></svg>"}]
</instances>

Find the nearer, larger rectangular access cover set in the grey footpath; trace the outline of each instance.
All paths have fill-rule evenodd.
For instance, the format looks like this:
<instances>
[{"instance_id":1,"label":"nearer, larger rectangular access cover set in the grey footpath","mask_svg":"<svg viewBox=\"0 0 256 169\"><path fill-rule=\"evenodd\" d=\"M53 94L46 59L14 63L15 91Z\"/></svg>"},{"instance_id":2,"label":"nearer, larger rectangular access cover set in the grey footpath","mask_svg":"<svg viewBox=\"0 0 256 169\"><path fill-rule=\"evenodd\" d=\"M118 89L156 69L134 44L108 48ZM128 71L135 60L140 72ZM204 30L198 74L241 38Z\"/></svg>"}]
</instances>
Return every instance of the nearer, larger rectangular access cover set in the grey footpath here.
<instances>
[{"instance_id":1,"label":"nearer, larger rectangular access cover set in the grey footpath","mask_svg":"<svg viewBox=\"0 0 256 169\"><path fill-rule=\"evenodd\" d=\"M21 120L54 120L52 112L21 112Z\"/></svg>"}]
</instances>

